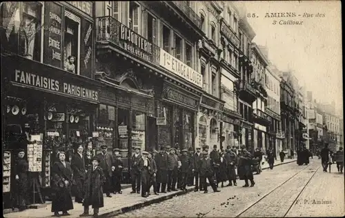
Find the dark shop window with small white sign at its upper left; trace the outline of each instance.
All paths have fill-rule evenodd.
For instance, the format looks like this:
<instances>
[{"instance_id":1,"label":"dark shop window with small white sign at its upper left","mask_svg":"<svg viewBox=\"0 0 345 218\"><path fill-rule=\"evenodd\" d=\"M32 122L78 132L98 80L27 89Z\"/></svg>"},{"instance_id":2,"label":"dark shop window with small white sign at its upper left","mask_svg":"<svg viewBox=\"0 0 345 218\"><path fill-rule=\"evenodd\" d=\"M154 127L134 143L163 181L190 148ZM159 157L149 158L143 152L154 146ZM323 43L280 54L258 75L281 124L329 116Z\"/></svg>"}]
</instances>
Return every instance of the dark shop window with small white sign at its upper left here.
<instances>
[{"instance_id":1,"label":"dark shop window with small white sign at its upper left","mask_svg":"<svg viewBox=\"0 0 345 218\"><path fill-rule=\"evenodd\" d=\"M168 106L158 105L158 117L166 117L166 125L159 125L158 146L170 146L171 143L171 109Z\"/></svg>"}]
</instances>

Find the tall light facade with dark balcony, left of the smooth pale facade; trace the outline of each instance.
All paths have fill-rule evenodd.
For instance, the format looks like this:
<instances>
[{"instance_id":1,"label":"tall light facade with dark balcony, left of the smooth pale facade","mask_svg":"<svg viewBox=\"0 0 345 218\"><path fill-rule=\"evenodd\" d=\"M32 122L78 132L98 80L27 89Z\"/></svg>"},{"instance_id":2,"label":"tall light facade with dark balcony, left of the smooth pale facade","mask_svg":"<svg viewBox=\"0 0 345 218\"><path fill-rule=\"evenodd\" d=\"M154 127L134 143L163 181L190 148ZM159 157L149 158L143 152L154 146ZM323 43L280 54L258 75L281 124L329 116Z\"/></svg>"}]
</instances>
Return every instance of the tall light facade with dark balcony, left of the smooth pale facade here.
<instances>
[{"instance_id":1,"label":"tall light facade with dark balcony, left of the smooth pale facade","mask_svg":"<svg viewBox=\"0 0 345 218\"><path fill-rule=\"evenodd\" d=\"M268 58L255 43L252 43L251 60L253 63L253 86L257 91L257 97L253 102L253 148L268 148L267 128L270 126L270 119L265 112L268 95L266 88L266 67L269 64ZM275 147L273 147L275 150Z\"/></svg>"}]
</instances>

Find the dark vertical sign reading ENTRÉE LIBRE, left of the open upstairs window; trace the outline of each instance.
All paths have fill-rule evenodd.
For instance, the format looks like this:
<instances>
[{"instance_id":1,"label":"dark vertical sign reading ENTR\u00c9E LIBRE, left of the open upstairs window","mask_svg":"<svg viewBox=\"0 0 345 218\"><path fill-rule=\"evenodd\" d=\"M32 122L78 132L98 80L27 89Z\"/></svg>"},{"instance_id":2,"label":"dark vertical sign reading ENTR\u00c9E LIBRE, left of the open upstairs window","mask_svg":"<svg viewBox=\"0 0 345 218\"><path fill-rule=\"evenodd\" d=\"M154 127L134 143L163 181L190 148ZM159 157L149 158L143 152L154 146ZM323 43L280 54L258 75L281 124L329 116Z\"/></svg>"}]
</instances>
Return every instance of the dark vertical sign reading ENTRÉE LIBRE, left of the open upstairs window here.
<instances>
[{"instance_id":1,"label":"dark vertical sign reading ENTR\u00c9E LIBRE, left of the open upstairs window","mask_svg":"<svg viewBox=\"0 0 345 218\"><path fill-rule=\"evenodd\" d=\"M44 59L43 62L57 68L61 68L62 60L62 17L61 6L56 3L49 3L46 12L48 19L48 32L44 35Z\"/></svg>"}]
</instances>

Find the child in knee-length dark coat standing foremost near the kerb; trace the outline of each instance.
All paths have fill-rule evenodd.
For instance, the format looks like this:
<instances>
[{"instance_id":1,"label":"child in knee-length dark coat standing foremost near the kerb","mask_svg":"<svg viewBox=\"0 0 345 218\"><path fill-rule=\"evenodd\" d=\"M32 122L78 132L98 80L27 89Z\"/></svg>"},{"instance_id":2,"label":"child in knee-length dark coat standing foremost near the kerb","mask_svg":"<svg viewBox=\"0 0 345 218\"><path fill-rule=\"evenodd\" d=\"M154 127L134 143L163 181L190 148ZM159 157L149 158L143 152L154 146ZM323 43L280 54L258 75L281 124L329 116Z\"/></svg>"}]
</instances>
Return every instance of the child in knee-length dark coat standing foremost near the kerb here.
<instances>
[{"instance_id":1,"label":"child in knee-length dark coat standing foremost near the kerb","mask_svg":"<svg viewBox=\"0 0 345 218\"><path fill-rule=\"evenodd\" d=\"M92 166L88 168L85 182L85 195L83 201L84 211L80 217L89 216L89 206L93 208L93 217L98 217L99 208L103 208L103 184L106 183L106 176L103 169L99 167L101 160L99 156L92 158Z\"/></svg>"}]
</instances>

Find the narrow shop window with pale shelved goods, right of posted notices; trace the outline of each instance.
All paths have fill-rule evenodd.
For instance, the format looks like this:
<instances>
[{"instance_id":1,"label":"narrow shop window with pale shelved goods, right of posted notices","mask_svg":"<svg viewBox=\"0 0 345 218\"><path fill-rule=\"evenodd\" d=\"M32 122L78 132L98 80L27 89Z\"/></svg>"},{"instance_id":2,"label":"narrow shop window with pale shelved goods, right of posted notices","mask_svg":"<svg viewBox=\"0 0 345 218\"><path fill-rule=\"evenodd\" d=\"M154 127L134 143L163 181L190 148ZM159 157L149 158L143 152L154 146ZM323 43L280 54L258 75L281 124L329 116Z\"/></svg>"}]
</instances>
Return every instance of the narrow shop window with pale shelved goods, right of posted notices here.
<instances>
[{"instance_id":1,"label":"narrow shop window with pale shelved goods, right of posted notices","mask_svg":"<svg viewBox=\"0 0 345 218\"><path fill-rule=\"evenodd\" d=\"M141 112L133 112L132 119L132 148L139 146L141 150L146 150L146 115ZM134 154L134 149L132 154Z\"/></svg>"}]
</instances>

